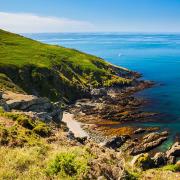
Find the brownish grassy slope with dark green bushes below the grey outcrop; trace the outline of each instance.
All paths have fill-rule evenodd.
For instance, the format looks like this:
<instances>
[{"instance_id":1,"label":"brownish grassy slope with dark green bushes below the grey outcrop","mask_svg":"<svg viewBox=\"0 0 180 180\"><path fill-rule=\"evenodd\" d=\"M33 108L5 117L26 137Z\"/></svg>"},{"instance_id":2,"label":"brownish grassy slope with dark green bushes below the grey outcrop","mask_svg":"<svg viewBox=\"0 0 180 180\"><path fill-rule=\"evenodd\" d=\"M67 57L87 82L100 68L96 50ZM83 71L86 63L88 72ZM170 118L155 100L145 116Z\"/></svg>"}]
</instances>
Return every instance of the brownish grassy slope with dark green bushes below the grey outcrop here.
<instances>
[{"instance_id":1,"label":"brownish grassy slope with dark green bushes below the grey outcrop","mask_svg":"<svg viewBox=\"0 0 180 180\"><path fill-rule=\"evenodd\" d=\"M24 114L5 112L0 108L0 145L37 145L43 143L40 137L50 135L51 127L41 120L32 119Z\"/></svg>"}]
</instances>

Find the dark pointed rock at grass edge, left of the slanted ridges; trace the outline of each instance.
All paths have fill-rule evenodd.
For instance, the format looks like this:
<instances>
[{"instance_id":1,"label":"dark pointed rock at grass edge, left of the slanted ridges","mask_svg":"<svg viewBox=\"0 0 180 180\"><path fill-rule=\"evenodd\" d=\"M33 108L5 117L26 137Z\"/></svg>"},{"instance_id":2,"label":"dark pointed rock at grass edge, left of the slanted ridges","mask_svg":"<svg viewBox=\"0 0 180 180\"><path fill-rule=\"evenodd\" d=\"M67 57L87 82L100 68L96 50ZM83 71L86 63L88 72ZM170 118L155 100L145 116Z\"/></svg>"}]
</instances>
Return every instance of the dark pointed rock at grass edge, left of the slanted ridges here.
<instances>
[{"instance_id":1,"label":"dark pointed rock at grass edge, left of the slanted ridges","mask_svg":"<svg viewBox=\"0 0 180 180\"><path fill-rule=\"evenodd\" d=\"M104 146L108 147L108 148L111 148L111 149L118 149L128 139L130 139L130 136L128 136L128 135L113 137L112 139L110 139L107 142L105 142Z\"/></svg>"}]
</instances>

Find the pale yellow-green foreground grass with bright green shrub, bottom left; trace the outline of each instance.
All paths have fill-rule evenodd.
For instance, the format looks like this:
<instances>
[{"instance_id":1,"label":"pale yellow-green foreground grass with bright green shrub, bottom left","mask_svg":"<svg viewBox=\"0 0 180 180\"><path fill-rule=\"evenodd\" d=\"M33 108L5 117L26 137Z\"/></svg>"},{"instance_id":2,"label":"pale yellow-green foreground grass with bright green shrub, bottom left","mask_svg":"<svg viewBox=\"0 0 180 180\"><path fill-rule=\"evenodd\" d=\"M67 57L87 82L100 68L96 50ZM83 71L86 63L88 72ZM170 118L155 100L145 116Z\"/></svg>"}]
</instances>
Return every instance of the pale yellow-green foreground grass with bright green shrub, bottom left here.
<instances>
[{"instance_id":1,"label":"pale yellow-green foreground grass with bright green shrub, bottom left","mask_svg":"<svg viewBox=\"0 0 180 180\"><path fill-rule=\"evenodd\" d=\"M85 179L91 156L82 147L0 147L0 179ZM57 152L57 150L59 152Z\"/></svg>"}]
</instances>

